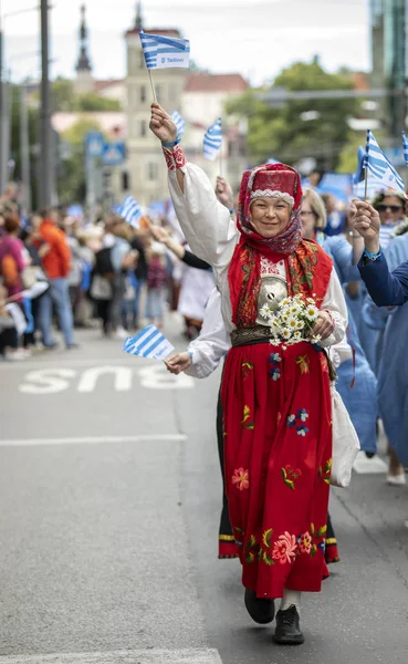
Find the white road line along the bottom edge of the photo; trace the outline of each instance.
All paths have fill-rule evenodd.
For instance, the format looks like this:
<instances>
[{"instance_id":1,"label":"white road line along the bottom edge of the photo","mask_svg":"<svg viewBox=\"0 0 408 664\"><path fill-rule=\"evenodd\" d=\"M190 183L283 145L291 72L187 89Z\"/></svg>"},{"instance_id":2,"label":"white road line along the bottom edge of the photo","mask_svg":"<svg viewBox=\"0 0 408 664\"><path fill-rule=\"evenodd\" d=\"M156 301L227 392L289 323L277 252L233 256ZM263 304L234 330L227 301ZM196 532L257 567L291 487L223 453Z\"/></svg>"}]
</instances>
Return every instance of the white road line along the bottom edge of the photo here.
<instances>
[{"instance_id":1,"label":"white road line along the bottom edge of the photo","mask_svg":"<svg viewBox=\"0 0 408 664\"><path fill-rule=\"evenodd\" d=\"M222 664L217 650L136 650L107 653L12 655L1 664Z\"/></svg>"}]
</instances>

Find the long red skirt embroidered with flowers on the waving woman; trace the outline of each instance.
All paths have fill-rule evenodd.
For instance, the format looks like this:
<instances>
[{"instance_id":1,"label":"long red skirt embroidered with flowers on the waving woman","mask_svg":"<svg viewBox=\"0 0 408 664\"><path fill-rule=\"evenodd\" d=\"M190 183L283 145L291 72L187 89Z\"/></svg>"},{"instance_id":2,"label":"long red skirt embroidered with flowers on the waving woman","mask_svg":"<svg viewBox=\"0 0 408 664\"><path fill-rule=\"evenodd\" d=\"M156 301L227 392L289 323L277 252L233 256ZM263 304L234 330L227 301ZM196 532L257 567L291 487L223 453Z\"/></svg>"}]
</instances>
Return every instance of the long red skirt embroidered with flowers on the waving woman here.
<instances>
[{"instance_id":1,"label":"long red skirt embroidered with flowers on the waving woman","mask_svg":"<svg viewBox=\"0 0 408 664\"><path fill-rule=\"evenodd\" d=\"M332 468L327 361L306 342L233 347L221 398L224 469L242 583L259 598L318 592Z\"/></svg>"}]
</instances>

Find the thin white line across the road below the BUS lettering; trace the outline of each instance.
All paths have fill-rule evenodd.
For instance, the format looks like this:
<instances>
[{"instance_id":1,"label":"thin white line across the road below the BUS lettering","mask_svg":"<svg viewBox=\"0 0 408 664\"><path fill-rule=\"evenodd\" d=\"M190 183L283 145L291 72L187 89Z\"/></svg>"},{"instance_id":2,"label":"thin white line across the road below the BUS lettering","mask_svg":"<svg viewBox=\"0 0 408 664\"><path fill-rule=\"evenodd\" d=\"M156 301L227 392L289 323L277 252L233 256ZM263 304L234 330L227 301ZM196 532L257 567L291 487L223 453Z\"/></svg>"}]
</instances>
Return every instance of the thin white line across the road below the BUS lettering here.
<instances>
[{"instance_id":1,"label":"thin white line across the road below the BUS lettering","mask_svg":"<svg viewBox=\"0 0 408 664\"><path fill-rule=\"evenodd\" d=\"M138 436L79 436L76 438L9 438L8 440L0 440L0 447L97 445L104 443L142 443L144 440L182 443L184 440L187 440L187 436L184 434L140 434Z\"/></svg>"}]
</instances>

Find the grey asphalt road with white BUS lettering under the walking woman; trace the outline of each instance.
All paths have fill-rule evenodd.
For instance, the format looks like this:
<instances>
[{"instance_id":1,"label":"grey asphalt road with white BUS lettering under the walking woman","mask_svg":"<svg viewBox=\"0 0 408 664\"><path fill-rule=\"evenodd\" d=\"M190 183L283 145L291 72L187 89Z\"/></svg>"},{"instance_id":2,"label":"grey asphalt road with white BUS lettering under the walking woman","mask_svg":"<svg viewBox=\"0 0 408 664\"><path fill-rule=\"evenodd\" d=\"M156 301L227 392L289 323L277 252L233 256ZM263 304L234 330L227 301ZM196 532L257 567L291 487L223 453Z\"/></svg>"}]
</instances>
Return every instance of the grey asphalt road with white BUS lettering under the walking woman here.
<instances>
[{"instance_id":1,"label":"grey asphalt road with white BUS lettering under the walking woman","mask_svg":"<svg viewBox=\"0 0 408 664\"><path fill-rule=\"evenodd\" d=\"M332 491L342 561L303 599L306 643L278 647L217 559L220 374L79 340L0 364L1 664L407 663L407 487L363 459Z\"/></svg>"}]
</instances>

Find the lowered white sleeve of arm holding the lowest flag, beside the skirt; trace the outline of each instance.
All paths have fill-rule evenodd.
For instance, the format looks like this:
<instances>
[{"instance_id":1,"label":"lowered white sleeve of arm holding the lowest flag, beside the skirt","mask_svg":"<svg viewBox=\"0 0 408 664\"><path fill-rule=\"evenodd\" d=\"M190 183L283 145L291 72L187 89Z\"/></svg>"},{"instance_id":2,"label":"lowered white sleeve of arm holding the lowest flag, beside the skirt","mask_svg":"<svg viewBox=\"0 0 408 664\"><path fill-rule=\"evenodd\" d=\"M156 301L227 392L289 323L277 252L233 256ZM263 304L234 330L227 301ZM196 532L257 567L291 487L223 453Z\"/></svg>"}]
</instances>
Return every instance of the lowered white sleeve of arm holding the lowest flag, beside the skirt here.
<instances>
[{"instance_id":1,"label":"lowered white sleeve of arm holding the lowest flag, beside the skirt","mask_svg":"<svg viewBox=\"0 0 408 664\"><path fill-rule=\"evenodd\" d=\"M230 347L230 335L221 315L221 295L215 288L207 303L200 335L188 346L192 364L185 373L196 378L207 378Z\"/></svg>"}]
</instances>

